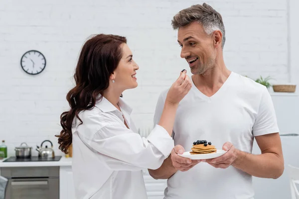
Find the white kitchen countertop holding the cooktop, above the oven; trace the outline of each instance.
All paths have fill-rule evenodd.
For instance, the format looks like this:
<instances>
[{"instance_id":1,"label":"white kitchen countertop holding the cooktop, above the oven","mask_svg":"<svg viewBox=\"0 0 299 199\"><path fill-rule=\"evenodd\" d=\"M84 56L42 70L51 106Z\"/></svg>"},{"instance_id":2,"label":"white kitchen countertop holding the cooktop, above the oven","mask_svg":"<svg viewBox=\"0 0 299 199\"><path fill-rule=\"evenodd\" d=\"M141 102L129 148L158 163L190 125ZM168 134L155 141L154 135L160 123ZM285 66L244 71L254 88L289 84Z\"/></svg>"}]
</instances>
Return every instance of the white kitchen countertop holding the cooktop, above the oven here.
<instances>
[{"instance_id":1,"label":"white kitchen countertop holding the cooktop, above the oven","mask_svg":"<svg viewBox=\"0 0 299 199\"><path fill-rule=\"evenodd\" d=\"M0 167L55 167L72 166L72 158L61 157L59 161L47 162L3 162L7 158L0 160Z\"/></svg>"}]
</instances>

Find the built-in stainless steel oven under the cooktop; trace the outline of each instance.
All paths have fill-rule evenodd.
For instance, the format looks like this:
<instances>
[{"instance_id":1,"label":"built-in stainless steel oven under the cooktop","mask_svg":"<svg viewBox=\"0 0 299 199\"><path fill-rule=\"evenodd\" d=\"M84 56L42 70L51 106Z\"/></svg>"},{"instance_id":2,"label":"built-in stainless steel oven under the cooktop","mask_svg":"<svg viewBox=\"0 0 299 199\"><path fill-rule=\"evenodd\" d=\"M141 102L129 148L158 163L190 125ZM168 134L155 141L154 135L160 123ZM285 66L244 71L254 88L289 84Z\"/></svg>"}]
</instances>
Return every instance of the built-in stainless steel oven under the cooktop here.
<instances>
[{"instance_id":1,"label":"built-in stainless steel oven under the cooktop","mask_svg":"<svg viewBox=\"0 0 299 199\"><path fill-rule=\"evenodd\" d=\"M59 167L2 167L5 199L59 199Z\"/></svg>"}]
</instances>

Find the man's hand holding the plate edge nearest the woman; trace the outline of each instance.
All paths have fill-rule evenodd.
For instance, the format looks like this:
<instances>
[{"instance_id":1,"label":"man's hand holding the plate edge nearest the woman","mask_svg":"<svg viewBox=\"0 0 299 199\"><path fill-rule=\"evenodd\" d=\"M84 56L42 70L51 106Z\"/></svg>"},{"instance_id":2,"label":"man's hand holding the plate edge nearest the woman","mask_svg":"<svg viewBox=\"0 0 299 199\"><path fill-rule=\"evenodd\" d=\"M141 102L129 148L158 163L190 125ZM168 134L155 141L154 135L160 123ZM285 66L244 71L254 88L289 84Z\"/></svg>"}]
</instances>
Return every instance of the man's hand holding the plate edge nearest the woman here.
<instances>
[{"instance_id":1,"label":"man's hand holding the plate edge nearest the woman","mask_svg":"<svg viewBox=\"0 0 299 199\"><path fill-rule=\"evenodd\" d=\"M172 151L171 151L171 161L172 165L176 170L179 171L188 171L198 163L200 163L200 160L190 160L189 158L183 158L177 154L183 154L185 152L185 149L181 145L176 145Z\"/></svg>"}]
</instances>

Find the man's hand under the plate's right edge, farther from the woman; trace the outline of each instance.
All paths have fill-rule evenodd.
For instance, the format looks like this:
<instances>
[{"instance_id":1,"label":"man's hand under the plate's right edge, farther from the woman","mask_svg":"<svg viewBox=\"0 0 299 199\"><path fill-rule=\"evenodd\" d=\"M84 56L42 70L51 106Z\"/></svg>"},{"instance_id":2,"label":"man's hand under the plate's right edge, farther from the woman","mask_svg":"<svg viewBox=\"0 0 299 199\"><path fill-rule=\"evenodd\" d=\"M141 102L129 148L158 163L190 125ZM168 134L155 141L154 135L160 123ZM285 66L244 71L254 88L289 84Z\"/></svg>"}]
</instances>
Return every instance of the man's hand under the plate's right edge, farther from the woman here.
<instances>
[{"instance_id":1,"label":"man's hand under the plate's right edge, farther from the woman","mask_svg":"<svg viewBox=\"0 0 299 199\"><path fill-rule=\"evenodd\" d=\"M207 159L205 160L205 162L209 163L215 168L221 168L221 169L226 169L230 165L232 165L237 159L237 149L230 142L226 142L223 145L222 149L227 151L224 155L218 158Z\"/></svg>"}]
</instances>

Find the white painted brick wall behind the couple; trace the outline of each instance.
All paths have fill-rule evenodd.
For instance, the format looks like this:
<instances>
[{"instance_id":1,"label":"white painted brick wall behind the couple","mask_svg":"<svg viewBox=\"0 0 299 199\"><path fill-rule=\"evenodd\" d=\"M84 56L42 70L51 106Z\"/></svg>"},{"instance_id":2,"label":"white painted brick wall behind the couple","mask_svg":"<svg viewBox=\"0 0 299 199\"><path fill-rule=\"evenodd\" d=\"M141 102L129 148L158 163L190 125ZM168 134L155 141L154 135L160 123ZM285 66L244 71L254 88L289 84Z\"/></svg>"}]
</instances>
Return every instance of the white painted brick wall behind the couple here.
<instances>
[{"instance_id":1,"label":"white painted brick wall behind the couple","mask_svg":"<svg viewBox=\"0 0 299 199\"><path fill-rule=\"evenodd\" d=\"M289 81L287 0L207 2L224 19L229 69L252 78L270 75L277 82ZM61 112L68 109L66 93L72 87L79 50L91 34L127 37L140 70L139 87L126 91L124 99L135 109L136 125L150 126L159 93L180 70L188 69L170 20L196 3L202 2L0 0L0 139L6 140L8 154L13 155L21 142L35 148L45 139L57 148L54 135L60 132ZM27 75L19 64L22 54L31 49L42 52L47 61L37 76ZM292 78L296 80L296 74Z\"/></svg>"}]
</instances>

